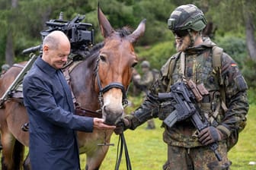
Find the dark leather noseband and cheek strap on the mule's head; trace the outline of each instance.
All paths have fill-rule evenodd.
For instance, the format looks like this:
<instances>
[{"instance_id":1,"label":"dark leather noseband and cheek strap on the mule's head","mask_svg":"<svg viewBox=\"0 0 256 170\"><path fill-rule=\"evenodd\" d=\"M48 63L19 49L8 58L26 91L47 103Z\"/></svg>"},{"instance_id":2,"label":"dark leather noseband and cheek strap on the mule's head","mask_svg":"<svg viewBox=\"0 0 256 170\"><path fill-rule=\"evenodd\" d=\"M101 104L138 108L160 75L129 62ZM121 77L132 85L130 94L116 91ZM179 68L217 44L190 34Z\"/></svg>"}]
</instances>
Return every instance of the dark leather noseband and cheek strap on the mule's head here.
<instances>
[{"instance_id":1,"label":"dark leather noseband and cheek strap on the mule's head","mask_svg":"<svg viewBox=\"0 0 256 170\"><path fill-rule=\"evenodd\" d=\"M101 86L101 79L100 79L100 76L98 74L98 63L100 61L100 57L98 57L97 61L96 61L96 69L95 69L95 72L96 72L96 78L97 78L97 83L98 83L98 87L99 87L99 102L100 102L100 105L101 105L101 109L104 105L104 100L103 100L103 94L105 92L107 92L108 90L112 89L112 88L117 88L117 89L120 89L122 90L122 93L123 93L123 100L122 100L122 103L123 105L126 105L128 104L128 99L127 99L127 91L128 90L125 90L125 88L123 87L123 84L122 83L118 83L118 82L112 82L112 83L109 83L107 84L107 86L105 86L104 88L102 88ZM128 88L127 88L128 89Z\"/></svg>"}]
</instances>

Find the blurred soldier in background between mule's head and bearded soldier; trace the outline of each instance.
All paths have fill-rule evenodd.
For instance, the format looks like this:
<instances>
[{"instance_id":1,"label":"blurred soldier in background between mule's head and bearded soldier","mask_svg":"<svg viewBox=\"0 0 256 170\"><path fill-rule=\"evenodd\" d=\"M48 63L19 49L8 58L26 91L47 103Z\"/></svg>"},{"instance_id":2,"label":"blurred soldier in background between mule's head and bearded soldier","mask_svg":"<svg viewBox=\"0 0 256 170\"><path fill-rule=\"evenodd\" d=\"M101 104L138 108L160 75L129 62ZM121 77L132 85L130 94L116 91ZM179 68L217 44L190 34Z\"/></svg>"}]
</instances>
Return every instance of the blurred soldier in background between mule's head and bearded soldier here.
<instances>
[{"instance_id":1,"label":"blurred soldier in background between mule's head and bearded soldier","mask_svg":"<svg viewBox=\"0 0 256 170\"><path fill-rule=\"evenodd\" d=\"M143 73L142 77L136 78L137 76L134 76L133 84L137 89L142 90L142 93L144 93L143 96L146 96L149 88L152 86L152 83L154 81L154 74L150 69L149 61L142 61L140 66ZM155 122L153 118L149 119L147 123L148 125L146 129L155 129Z\"/></svg>"}]
</instances>

